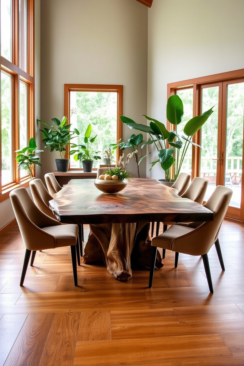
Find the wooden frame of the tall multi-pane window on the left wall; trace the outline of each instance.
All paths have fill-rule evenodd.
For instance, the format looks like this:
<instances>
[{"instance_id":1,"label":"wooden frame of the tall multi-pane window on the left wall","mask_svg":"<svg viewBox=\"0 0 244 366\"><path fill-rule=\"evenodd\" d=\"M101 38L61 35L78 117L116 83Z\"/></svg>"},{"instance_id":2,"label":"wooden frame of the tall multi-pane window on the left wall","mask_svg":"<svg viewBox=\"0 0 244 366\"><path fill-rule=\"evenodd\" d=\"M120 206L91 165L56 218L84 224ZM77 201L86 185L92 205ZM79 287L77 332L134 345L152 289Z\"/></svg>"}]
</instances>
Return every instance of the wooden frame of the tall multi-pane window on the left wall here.
<instances>
[{"instance_id":1,"label":"wooden frame of the tall multi-pane window on the left wall","mask_svg":"<svg viewBox=\"0 0 244 366\"><path fill-rule=\"evenodd\" d=\"M19 67L19 0L12 0L12 62L0 55L1 71L12 76L12 128L13 128L13 180L1 185L0 202L9 198L10 191L20 185L29 186L28 175L20 179L20 171L17 169L15 150L19 149L19 82L27 84L27 138L34 137L34 0L27 0L27 72ZM1 135L1 129L0 129ZM0 146L1 164L1 146ZM0 171L1 179L1 171Z\"/></svg>"}]
</instances>

